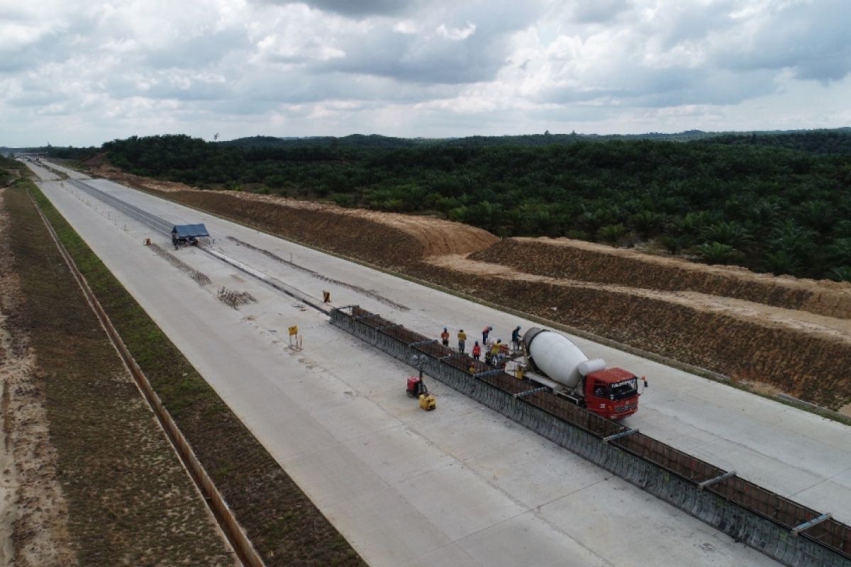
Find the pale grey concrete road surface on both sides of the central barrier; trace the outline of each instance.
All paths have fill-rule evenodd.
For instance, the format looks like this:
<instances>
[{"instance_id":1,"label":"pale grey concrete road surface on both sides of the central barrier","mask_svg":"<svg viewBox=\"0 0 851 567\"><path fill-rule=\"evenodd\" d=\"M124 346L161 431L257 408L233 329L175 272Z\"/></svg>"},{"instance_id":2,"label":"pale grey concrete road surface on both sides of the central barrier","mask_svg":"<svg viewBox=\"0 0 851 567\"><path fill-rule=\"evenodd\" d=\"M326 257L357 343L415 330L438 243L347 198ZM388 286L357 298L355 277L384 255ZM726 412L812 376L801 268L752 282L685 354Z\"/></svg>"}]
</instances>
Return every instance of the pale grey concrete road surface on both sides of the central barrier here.
<instances>
[{"instance_id":1,"label":"pale grey concrete road surface on both sides of the central barrier","mask_svg":"<svg viewBox=\"0 0 851 567\"><path fill-rule=\"evenodd\" d=\"M328 291L334 306L357 304L433 337L444 326L475 337L492 325L506 340L532 321L110 181L62 170L93 192L32 168L89 247L369 564L774 564L454 389L431 381L438 409L420 411L403 391L409 366L328 325L305 300L322 304ZM168 237L96 191L168 224L206 224L220 257L186 247L170 253L189 271L163 262L144 242L168 247ZM222 290L255 301L229 305ZM291 326L300 350L290 348ZM648 377L629 428L851 521L848 427L572 339Z\"/></svg>"}]
</instances>

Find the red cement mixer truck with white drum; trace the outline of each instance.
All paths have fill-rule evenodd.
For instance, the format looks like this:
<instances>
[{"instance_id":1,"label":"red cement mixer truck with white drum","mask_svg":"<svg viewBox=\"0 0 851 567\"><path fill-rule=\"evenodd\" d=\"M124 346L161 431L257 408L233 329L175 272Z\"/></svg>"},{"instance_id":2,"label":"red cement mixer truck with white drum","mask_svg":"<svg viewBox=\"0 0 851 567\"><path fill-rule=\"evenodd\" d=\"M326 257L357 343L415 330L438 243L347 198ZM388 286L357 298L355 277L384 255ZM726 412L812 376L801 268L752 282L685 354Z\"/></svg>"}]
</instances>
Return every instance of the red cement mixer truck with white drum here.
<instances>
[{"instance_id":1,"label":"red cement mixer truck with white drum","mask_svg":"<svg viewBox=\"0 0 851 567\"><path fill-rule=\"evenodd\" d=\"M533 327L523 335L525 377L554 394L608 419L638 411L638 378L621 368L606 368L588 357L563 334ZM643 381L647 387L647 381Z\"/></svg>"}]
</instances>

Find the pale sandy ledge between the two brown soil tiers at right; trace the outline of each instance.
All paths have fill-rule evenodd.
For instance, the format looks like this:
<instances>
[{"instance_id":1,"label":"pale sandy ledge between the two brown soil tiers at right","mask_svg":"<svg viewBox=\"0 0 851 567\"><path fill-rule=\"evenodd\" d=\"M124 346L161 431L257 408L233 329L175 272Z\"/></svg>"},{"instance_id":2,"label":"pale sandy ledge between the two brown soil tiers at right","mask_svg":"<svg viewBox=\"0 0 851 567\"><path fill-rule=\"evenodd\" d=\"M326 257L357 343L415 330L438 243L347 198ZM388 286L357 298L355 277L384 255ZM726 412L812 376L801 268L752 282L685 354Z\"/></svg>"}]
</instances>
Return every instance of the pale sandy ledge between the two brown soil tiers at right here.
<instances>
[{"instance_id":1,"label":"pale sandy ledge between the two brown soil tiers at right","mask_svg":"<svg viewBox=\"0 0 851 567\"><path fill-rule=\"evenodd\" d=\"M692 309L714 311L743 320L756 321L764 326L784 326L802 330L823 337L851 343L851 320L835 319L814 315L807 311L781 309L742 299L725 298L699 292L660 292L630 286L589 283L587 281L563 280L544 275L533 275L518 271L501 264L489 264L466 258L463 254L454 254L430 258L430 264L454 269L467 274L497 276L511 280L540 281L558 286L579 286L604 289L610 292L625 293L644 298L659 299L679 303Z\"/></svg>"}]
</instances>

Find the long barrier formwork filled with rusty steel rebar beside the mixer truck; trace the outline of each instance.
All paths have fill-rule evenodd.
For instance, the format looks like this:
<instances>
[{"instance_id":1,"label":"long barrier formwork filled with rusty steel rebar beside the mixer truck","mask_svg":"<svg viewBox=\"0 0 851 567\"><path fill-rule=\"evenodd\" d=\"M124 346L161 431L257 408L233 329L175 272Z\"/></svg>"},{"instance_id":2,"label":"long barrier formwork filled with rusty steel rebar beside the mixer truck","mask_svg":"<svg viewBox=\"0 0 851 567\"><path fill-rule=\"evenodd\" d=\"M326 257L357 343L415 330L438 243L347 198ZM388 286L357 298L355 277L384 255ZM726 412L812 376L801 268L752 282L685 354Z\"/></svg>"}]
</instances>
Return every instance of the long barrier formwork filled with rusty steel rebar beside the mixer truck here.
<instances>
[{"instance_id":1,"label":"long barrier formwork filled with rusty steel rebar beside the mixer truck","mask_svg":"<svg viewBox=\"0 0 851 567\"><path fill-rule=\"evenodd\" d=\"M612 438L629 428L365 309L333 309L331 322L782 564L851 567L851 526L827 514L647 435Z\"/></svg>"}]
</instances>

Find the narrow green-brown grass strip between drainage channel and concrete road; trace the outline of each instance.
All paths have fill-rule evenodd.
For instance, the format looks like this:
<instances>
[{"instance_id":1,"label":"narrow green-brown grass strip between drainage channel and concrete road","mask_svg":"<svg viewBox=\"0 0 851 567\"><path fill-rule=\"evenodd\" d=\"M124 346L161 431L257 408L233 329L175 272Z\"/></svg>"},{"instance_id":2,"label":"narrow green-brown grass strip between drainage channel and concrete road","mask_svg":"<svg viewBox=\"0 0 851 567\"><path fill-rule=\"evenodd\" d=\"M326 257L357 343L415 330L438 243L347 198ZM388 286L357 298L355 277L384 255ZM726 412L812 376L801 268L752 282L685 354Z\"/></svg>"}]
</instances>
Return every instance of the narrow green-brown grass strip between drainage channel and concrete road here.
<instances>
[{"instance_id":1,"label":"narrow green-brown grass strip between drainage channel and concrete road","mask_svg":"<svg viewBox=\"0 0 851 567\"><path fill-rule=\"evenodd\" d=\"M50 201L33 195L266 564L363 565Z\"/></svg>"}]
</instances>

